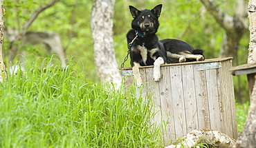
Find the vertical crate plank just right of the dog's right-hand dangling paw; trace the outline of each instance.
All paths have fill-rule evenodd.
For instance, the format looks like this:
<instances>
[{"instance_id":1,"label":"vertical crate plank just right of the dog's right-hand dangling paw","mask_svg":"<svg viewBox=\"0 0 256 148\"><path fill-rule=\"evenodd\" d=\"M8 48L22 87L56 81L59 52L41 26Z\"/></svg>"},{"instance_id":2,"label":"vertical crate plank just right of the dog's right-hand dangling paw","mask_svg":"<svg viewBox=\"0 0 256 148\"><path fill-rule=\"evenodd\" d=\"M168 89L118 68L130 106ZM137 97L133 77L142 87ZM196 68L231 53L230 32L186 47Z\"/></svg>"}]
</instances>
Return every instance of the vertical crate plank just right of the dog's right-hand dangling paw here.
<instances>
[{"instance_id":1,"label":"vertical crate plank just right of the dog's right-hand dangling paw","mask_svg":"<svg viewBox=\"0 0 256 148\"><path fill-rule=\"evenodd\" d=\"M170 140L178 137L175 135L174 125L174 109L172 107L172 92L171 92L171 79L170 67L161 67L161 74L163 78L159 82L160 99L161 99L161 112L163 119L163 131L165 145L170 144Z\"/></svg>"}]
</instances>

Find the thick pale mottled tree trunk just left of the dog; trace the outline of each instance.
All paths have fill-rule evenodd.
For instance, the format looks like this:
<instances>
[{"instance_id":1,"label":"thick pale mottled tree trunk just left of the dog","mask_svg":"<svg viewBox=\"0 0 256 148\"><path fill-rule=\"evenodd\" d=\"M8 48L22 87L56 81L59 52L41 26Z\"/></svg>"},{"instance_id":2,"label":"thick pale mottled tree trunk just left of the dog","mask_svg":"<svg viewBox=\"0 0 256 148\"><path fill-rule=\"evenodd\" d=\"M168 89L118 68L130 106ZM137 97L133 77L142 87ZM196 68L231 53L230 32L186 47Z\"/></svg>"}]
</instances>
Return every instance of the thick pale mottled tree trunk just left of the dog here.
<instances>
[{"instance_id":1,"label":"thick pale mottled tree trunk just left of the dog","mask_svg":"<svg viewBox=\"0 0 256 148\"><path fill-rule=\"evenodd\" d=\"M94 59L100 81L109 81L117 87L121 83L113 48L113 7L115 0L95 0L91 12Z\"/></svg>"}]
</instances>

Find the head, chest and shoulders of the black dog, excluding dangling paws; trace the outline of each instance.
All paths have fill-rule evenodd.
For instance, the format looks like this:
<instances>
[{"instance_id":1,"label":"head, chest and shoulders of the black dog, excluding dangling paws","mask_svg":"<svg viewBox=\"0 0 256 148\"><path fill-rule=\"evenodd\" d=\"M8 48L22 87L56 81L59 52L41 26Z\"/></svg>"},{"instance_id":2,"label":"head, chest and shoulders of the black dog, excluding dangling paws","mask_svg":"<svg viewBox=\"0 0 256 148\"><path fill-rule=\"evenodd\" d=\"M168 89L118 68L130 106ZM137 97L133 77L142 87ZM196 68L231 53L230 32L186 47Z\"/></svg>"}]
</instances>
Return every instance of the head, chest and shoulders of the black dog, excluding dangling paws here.
<instances>
[{"instance_id":1,"label":"head, chest and shoulders of the black dog, excluding dangling paws","mask_svg":"<svg viewBox=\"0 0 256 148\"><path fill-rule=\"evenodd\" d=\"M158 5L152 10L146 9L141 11L133 6L129 6L129 8L132 17L134 17L131 23L132 29L127 33L131 66L134 66L134 62L139 63L141 66L154 65L154 61L159 56L166 62L165 48L156 36L159 26L158 17L160 16L162 5ZM135 39L136 34L138 37ZM131 43L133 40L134 42Z\"/></svg>"}]
</instances>

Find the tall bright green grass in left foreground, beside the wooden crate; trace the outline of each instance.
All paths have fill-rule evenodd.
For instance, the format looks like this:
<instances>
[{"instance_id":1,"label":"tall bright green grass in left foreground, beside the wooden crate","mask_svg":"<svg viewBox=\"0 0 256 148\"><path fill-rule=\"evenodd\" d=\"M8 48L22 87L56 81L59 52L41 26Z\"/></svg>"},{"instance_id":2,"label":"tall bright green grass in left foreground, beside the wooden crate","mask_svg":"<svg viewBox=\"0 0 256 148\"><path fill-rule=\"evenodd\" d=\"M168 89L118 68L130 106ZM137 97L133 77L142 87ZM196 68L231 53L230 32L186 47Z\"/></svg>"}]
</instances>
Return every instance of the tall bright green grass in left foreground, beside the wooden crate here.
<instances>
[{"instance_id":1,"label":"tall bright green grass in left foreground, beside the wooden crate","mask_svg":"<svg viewBox=\"0 0 256 148\"><path fill-rule=\"evenodd\" d=\"M0 147L162 145L161 131L149 124L150 101L137 98L134 86L127 94L91 83L69 64L62 71L48 62L30 63L22 77L8 75L0 84Z\"/></svg>"}]
</instances>

